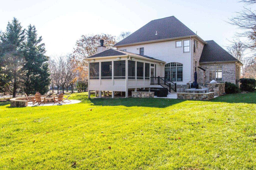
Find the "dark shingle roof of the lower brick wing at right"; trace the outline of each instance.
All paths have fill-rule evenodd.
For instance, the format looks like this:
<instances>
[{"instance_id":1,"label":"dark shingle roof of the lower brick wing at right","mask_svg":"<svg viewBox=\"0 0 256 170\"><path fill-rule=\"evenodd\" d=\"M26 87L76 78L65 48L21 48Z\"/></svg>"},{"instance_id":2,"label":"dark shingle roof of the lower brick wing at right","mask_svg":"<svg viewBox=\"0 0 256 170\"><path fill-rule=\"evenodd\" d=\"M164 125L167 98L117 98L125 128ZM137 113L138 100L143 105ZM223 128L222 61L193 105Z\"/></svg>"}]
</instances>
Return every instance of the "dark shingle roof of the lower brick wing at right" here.
<instances>
[{"instance_id":1,"label":"dark shingle roof of the lower brick wing at right","mask_svg":"<svg viewBox=\"0 0 256 170\"><path fill-rule=\"evenodd\" d=\"M203 48L199 63L238 61L215 41L209 40L206 42L207 44Z\"/></svg>"}]
</instances>

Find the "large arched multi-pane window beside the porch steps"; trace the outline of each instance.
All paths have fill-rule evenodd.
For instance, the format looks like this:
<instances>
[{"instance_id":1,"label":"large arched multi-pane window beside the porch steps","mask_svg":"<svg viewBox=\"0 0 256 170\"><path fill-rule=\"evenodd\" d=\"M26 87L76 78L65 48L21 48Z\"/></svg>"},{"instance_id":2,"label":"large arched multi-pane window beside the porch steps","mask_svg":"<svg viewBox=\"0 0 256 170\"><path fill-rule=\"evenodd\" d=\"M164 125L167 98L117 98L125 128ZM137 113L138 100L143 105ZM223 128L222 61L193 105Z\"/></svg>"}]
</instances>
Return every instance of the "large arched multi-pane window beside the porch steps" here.
<instances>
[{"instance_id":1,"label":"large arched multi-pane window beside the porch steps","mask_svg":"<svg viewBox=\"0 0 256 170\"><path fill-rule=\"evenodd\" d=\"M167 63L164 68L164 76L170 81L183 81L183 64Z\"/></svg>"}]
</instances>

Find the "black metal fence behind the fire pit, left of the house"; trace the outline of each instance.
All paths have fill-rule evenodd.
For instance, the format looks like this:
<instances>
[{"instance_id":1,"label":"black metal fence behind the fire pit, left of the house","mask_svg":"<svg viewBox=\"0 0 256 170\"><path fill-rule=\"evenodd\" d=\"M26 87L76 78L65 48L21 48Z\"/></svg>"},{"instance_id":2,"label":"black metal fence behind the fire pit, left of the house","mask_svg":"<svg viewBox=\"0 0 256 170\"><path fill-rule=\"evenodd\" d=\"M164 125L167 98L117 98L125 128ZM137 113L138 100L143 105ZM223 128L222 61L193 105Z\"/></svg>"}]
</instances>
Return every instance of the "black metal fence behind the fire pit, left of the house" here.
<instances>
[{"instance_id":1,"label":"black metal fence behind the fire pit, left of the house","mask_svg":"<svg viewBox=\"0 0 256 170\"><path fill-rule=\"evenodd\" d=\"M60 91L62 91L64 94L71 94L71 93L80 93L80 92L86 92L88 91L88 87L80 87L80 88L67 88L67 89L48 89L48 91L45 94L41 95L50 95L50 94L58 94ZM16 97L24 97L25 92L22 90L19 90L16 92ZM13 94L10 93L0 93L0 100L7 100L11 99L13 97Z\"/></svg>"}]
</instances>

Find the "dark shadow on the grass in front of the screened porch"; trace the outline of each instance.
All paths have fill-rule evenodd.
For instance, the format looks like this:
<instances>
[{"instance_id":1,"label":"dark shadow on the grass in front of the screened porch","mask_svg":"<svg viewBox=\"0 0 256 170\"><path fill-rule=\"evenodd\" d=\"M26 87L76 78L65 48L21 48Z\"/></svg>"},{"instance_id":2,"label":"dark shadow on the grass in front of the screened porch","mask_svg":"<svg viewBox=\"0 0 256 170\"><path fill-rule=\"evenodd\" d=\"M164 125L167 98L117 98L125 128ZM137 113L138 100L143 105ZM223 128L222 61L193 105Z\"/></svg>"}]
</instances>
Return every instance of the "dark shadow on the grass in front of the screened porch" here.
<instances>
[{"instance_id":1,"label":"dark shadow on the grass in front of the screened porch","mask_svg":"<svg viewBox=\"0 0 256 170\"><path fill-rule=\"evenodd\" d=\"M89 99L96 106L140 106L165 108L177 103L184 102L180 99L160 99L160 98L119 98L119 99Z\"/></svg>"}]
</instances>

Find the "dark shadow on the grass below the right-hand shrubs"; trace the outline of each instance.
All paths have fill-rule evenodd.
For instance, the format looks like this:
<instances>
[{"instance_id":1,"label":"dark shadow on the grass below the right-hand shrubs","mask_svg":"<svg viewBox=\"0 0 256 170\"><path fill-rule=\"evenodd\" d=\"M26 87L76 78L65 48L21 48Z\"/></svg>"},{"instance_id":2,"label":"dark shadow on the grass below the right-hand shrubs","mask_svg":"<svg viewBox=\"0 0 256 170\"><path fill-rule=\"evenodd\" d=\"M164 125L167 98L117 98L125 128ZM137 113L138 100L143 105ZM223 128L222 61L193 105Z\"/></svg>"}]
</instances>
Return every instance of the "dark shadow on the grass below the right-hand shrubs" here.
<instances>
[{"instance_id":1,"label":"dark shadow on the grass below the right-hand shrubs","mask_svg":"<svg viewBox=\"0 0 256 170\"><path fill-rule=\"evenodd\" d=\"M256 93L238 93L226 94L210 100L209 102L225 102L225 103L248 103L256 104Z\"/></svg>"}]
</instances>

